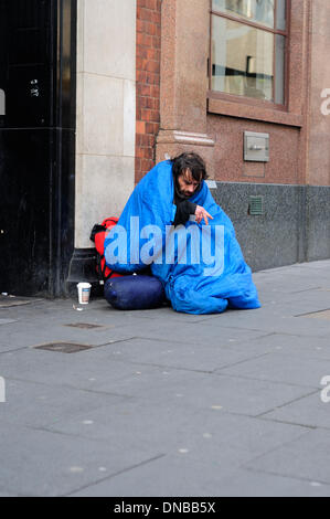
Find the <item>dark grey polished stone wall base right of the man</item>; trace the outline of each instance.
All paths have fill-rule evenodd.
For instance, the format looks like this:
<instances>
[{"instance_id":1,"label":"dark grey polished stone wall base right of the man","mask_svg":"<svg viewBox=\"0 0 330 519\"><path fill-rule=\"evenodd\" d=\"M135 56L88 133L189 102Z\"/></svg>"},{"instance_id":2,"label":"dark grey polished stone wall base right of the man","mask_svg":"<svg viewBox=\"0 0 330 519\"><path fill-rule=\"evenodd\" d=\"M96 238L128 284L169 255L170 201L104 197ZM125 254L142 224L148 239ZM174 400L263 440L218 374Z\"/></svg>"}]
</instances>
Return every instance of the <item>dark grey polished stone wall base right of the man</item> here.
<instances>
[{"instance_id":1,"label":"dark grey polished stone wall base right of the man","mask_svg":"<svg viewBox=\"0 0 330 519\"><path fill-rule=\"evenodd\" d=\"M330 187L216 182L211 191L253 271L330 257ZM249 214L255 195L262 215Z\"/></svg>"}]
</instances>

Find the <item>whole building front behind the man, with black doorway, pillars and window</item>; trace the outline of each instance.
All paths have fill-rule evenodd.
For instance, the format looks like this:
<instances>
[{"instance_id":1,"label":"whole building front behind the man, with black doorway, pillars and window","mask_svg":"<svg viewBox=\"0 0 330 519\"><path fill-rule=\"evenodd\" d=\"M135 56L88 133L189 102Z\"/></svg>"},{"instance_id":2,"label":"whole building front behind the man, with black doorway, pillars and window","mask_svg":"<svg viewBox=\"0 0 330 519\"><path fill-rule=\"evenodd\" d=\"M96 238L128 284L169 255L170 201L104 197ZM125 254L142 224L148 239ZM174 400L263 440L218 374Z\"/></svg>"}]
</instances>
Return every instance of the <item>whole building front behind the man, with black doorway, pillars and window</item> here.
<instances>
[{"instance_id":1,"label":"whole building front behind the man, with black doorway, pillars and window","mask_svg":"<svg viewBox=\"0 0 330 519\"><path fill-rule=\"evenodd\" d=\"M184 150L205 159L253 269L330 257L327 0L1 0L0 12L1 292L96 282L94 223Z\"/></svg>"}]
</instances>

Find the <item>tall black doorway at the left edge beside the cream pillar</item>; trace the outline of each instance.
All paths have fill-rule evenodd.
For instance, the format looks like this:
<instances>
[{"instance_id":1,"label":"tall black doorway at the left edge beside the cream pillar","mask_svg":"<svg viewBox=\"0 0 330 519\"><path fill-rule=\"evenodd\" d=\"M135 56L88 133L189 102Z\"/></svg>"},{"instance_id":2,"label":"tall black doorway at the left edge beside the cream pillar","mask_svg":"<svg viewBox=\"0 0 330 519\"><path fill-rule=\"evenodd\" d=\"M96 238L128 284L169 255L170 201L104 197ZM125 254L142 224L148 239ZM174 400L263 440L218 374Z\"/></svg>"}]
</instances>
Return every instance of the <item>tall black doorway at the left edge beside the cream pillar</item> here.
<instances>
[{"instance_id":1,"label":"tall black doorway at the left edge beside the cream pillar","mask_svg":"<svg viewBox=\"0 0 330 519\"><path fill-rule=\"evenodd\" d=\"M76 0L0 0L0 293L64 294L73 252Z\"/></svg>"}]
</instances>

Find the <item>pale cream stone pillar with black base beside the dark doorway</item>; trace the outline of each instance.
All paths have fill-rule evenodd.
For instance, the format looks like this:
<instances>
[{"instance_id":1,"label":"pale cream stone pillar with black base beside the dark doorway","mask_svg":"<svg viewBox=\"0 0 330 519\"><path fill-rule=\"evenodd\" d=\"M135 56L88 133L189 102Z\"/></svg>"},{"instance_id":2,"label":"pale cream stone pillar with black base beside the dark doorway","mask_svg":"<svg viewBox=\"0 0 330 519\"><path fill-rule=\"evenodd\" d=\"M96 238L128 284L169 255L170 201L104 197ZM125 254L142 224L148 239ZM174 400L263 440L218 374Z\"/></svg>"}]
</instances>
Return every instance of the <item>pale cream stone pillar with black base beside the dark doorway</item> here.
<instances>
[{"instance_id":1,"label":"pale cream stone pillar with black base beside the dark doorway","mask_svg":"<svg viewBox=\"0 0 330 519\"><path fill-rule=\"evenodd\" d=\"M135 184L136 0L77 1L75 253L70 282L95 278L94 223Z\"/></svg>"}]
</instances>

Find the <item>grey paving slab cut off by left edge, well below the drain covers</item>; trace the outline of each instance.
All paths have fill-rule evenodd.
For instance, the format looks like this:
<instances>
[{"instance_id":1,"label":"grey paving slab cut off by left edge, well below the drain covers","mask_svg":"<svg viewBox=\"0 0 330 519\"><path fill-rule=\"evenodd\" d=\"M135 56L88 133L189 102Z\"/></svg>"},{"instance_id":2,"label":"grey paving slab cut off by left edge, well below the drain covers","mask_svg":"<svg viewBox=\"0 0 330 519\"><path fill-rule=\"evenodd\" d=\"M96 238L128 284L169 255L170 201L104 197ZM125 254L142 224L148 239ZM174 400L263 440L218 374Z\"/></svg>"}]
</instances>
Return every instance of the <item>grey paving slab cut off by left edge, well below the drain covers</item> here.
<instances>
[{"instance_id":1,"label":"grey paving slab cut off by left edge, well below the drain covers","mask_svg":"<svg viewBox=\"0 0 330 519\"><path fill-rule=\"evenodd\" d=\"M97 392L61 384L50 386L6 379L6 402L0 404L0 422L44 427L76 414L87 415L95 409L106 410L114 401L124 400L121 395L103 394L100 398Z\"/></svg>"}]
</instances>

